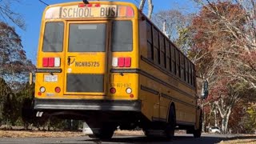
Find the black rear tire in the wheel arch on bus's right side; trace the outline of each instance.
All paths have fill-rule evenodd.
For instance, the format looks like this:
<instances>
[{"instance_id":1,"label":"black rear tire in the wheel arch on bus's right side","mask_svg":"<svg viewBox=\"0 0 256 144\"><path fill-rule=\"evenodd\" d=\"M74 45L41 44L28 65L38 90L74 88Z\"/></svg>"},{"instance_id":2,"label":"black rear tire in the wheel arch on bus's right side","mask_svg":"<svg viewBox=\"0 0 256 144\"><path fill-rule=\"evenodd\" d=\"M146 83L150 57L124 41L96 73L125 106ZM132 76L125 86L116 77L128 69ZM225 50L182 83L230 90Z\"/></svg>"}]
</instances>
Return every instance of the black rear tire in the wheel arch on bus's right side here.
<instances>
[{"instance_id":1,"label":"black rear tire in the wheel arch on bus's right side","mask_svg":"<svg viewBox=\"0 0 256 144\"><path fill-rule=\"evenodd\" d=\"M171 105L169 110L168 123L165 130L167 140L174 138L175 127L176 127L176 112L175 112L174 105Z\"/></svg>"}]
</instances>

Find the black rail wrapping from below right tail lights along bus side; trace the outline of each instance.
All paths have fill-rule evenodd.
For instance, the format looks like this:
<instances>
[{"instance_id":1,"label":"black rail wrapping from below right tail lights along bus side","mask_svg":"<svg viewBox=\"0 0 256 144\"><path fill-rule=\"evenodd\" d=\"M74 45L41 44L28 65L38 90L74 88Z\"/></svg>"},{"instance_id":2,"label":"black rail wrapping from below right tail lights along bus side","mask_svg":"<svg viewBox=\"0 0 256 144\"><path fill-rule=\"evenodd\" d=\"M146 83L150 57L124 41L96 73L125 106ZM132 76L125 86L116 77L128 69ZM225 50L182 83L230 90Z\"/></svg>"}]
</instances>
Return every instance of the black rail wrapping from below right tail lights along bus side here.
<instances>
[{"instance_id":1,"label":"black rail wrapping from below right tail lights along bus side","mask_svg":"<svg viewBox=\"0 0 256 144\"><path fill-rule=\"evenodd\" d=\"M161 79L156 78L153 75L146 73L146 71L144 71L144 70L139 70L139 69L112 69L112 70L110 70L110 72L111 73L137 73L137 74L142 74L142 75L146 76L147 78L150 78L150 79L152 79L156 82L161 83L164 86L169 87L170 89L174 89L174 90L178 91L179 93L186 95L189 98L195 98L194 95L189 94L186 91L179 90L177 87L172 86L169 83L164 82Z\"/></svg>"}]
</instances>

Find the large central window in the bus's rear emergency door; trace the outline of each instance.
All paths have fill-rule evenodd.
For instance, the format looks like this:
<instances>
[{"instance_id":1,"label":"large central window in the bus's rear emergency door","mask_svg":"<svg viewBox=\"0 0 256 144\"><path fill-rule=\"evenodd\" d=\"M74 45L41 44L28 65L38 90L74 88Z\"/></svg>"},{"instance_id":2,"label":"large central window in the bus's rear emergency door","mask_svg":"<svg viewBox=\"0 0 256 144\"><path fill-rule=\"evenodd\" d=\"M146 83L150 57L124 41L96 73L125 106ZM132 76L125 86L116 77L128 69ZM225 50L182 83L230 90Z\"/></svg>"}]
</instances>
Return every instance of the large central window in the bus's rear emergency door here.
<instances>
[{"instance_id":1,"label":"large central window in the bus's rear emergency door","mask_svg":"<svg viewBox=\"0 0 256 144\"><path fill-rule=\"evenodd\" d=\"M69 52L106 50L106 24L70 24Z\"/></svg>"}]
</instances>

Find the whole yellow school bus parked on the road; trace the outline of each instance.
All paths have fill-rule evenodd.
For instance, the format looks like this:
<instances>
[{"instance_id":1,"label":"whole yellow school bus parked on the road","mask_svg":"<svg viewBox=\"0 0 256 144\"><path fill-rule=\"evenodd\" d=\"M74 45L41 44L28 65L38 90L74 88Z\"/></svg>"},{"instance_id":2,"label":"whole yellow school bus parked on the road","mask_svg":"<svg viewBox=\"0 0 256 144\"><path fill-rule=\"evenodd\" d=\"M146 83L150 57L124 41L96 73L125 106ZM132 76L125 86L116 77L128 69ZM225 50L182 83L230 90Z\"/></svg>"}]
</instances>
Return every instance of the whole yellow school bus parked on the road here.
<instances>
[{"instance_id":1,"label":"whole yellow school bus parked on the road","mask_svg":"<svg viewBox=\"0 0 256 144\"><path fill-rule=\"evenodd\" d=\"M128 2L46 7L34 109L84 120L97 138L117 127L167 138L175 129L200 137L202 129L194 64Z\"/></svg>"}]
</instances>

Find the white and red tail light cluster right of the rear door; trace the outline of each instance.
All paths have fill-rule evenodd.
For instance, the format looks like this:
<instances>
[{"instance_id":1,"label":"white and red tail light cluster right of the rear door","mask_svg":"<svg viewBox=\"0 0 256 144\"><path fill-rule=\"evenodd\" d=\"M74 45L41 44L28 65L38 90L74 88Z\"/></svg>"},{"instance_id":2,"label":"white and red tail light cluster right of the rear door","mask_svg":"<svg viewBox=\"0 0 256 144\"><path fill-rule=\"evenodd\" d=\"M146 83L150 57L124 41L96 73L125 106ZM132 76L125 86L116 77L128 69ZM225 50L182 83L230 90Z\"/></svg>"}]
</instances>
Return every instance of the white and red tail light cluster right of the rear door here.
<instances>
[{"instance_id":1,"label":"white and red tail light cluster right of the rear door","mask_svg":"<svg viewBox=\"0 0 256 144\"><path fill-rule=\"evenodd\" d=\"M130 67L131 66L131 58L113 58L112 59L112 66L113 67Z\"/></svg>"}]
</instances>

